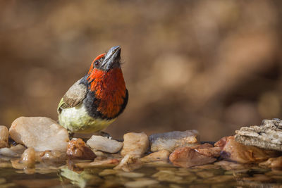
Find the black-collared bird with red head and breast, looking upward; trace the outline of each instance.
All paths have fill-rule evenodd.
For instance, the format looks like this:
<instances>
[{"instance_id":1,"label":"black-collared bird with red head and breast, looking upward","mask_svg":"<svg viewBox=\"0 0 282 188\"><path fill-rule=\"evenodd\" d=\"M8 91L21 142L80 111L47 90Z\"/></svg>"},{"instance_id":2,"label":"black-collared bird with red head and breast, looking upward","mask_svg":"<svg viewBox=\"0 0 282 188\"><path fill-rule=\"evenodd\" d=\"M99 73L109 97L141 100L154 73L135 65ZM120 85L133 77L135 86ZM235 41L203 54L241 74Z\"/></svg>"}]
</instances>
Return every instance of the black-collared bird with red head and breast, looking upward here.
<instances>
[{"instance_id":1,"label":"black-collared bird with red head and breast, looking upward","mask_svg":"<svg viewBox=\"0 0 282 188\"><path fill-rule=\"evenodd\" d=\"M127 104L121 46L113 46L94 58L87 74L63 95L57 108L59 125L70 134L99 132L113 123Z\"/></svg>"}]
</instances>

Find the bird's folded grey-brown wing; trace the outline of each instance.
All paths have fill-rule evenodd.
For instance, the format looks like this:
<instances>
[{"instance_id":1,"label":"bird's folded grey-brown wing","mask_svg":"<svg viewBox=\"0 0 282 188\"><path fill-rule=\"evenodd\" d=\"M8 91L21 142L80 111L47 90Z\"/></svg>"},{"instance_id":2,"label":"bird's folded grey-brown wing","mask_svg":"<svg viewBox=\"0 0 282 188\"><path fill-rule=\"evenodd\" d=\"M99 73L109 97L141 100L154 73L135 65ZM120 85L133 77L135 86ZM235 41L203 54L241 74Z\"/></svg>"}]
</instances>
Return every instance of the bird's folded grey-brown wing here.
<instances>
[{"instance_id":1,"label":"bird's folded grey-brown wing","mask_svg":"<svg viewBox=\"0 0 282 188\"><path fill-rule=\"evenodd\" d=\"M85 99L87 87L85 84L81 83L82 79L78 80L78 82L75 82L75 84L73 84L73 86L70 87L68 92L66 92L66 94L63 96L57 108L58 113L61 113L63 108L72 108L78 106L82 103L83 99Z\"/></svg>"}]
</instances>

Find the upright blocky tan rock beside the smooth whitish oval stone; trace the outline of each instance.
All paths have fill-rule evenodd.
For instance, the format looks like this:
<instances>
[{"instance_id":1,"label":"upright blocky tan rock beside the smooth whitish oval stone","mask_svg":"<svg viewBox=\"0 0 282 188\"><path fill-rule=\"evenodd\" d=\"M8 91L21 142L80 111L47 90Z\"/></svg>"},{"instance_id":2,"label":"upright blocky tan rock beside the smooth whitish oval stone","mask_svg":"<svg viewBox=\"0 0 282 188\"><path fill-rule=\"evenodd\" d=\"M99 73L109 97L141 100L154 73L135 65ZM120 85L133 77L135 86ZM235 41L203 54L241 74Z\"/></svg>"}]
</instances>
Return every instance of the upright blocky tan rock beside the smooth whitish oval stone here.
<instances>
[{"instance_id":1,"label":"upright blocky tan rock beside the smooth whitish oval stone","mask_svg":"<svg viewBox=\"0 0 282 188\"><path fill-rule=\"evenodd\" d=\"M149 147L149 139L144 132L129 132L123 135L123 139L122 156L142 156Z\"/></svg>"}]
</instances>

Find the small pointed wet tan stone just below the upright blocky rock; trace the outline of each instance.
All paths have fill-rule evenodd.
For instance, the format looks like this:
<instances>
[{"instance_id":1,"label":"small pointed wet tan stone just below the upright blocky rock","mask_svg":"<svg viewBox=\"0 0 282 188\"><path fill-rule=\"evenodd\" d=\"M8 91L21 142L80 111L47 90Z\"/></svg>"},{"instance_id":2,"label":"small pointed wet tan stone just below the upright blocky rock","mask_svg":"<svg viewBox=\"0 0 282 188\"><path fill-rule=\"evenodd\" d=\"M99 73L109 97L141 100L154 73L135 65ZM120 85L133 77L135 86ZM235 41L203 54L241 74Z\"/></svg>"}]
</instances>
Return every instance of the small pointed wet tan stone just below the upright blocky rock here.
<instances>
[{"instance_id":1,"label":"small pointed wet tan stone just below the upright blocky rock","mask_svg":"<svg viewBox=\"0 0 282 188\"><path fill-rule=\"evenodd\" d=\"M130 172L141 167L142 162L140 161L140 158L138 156L126 155L121 160L121 163L119 163L114 169Z\"/></svg>"}]
</instances>

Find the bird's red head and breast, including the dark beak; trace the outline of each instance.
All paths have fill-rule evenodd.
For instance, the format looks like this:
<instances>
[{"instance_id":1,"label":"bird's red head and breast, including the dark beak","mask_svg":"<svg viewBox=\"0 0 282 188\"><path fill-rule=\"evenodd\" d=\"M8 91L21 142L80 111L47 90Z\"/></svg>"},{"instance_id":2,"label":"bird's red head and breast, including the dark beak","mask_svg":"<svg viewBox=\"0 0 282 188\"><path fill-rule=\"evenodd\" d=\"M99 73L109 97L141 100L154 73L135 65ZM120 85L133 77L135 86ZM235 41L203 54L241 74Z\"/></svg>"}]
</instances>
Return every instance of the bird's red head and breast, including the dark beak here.
<instances>
[{"instance_id":1,"label":"bird's red head and breast, including the dark beak","mask_svg":"<svg viewBox=\"0 0 282 188\"><path fill-rule=\"evenodd\" d=\"M123 105L126 88L121 71L121 47L112 47L107 54L94 59L87 73L89 90L94 92L97 111L107 118L118 114Z\"/></svg>"}]
</instances>

